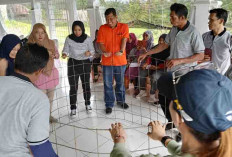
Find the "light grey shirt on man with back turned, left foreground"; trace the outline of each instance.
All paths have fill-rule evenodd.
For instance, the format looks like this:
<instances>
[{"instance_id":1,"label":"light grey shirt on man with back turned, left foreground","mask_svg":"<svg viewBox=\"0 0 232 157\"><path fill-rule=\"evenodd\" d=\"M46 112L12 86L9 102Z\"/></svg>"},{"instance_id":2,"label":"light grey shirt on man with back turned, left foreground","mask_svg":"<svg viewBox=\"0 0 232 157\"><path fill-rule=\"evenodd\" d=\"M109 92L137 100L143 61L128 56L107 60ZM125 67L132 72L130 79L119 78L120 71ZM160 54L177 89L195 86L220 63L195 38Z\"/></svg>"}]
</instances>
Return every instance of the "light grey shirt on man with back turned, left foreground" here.
<instances>
[{"instance_id":1,"label":"light grey shirt on man with back turned, left foreground","mask_svg":"<svg viewBox=\"0 0 232 157\"><path fill-rule=\"evenodd\" d=\"M16 76L2 76L0 84L0 156L31 157L28 145L42 144L49 137L48 98Z\"/></svg>"}]
</instances>

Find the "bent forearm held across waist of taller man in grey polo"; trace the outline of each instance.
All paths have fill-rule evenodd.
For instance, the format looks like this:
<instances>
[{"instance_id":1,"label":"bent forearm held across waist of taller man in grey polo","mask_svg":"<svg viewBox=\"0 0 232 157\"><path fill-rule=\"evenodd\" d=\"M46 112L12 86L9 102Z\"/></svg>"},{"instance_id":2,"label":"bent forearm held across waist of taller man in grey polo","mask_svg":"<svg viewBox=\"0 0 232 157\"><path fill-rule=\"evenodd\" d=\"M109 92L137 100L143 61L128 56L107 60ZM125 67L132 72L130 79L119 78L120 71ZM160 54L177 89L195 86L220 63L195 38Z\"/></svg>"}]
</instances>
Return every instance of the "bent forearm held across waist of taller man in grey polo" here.
<instances>
[{"instance_id":1,"label":"bent forearm held across waist of taller man in grey polo","mask_svg":"<svg viewBox=\"0 0 232 157\"><path fill-rule=\"evenodd\" d=\"M193 63L193 62L197 62L199 60L204 59L204 53L196 53L190 57L186 57L186 58L176 58L176 59L171 59L168 60L166 62L166 67L167 68L172 68L175 67L179 64L187 64L187 63Z\"/></svg>"}]
</instances>

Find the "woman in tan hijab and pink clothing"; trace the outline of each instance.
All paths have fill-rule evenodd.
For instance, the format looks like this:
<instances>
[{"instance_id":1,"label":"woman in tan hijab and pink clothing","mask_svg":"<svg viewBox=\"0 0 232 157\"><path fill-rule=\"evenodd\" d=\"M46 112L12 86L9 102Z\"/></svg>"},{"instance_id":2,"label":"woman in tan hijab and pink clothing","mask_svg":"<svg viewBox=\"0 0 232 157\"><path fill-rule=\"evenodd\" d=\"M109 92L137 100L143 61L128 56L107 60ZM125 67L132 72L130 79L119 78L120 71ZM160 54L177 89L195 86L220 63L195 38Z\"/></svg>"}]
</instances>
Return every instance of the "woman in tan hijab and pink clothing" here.
<instances>
[{"instance_id":1,"label":"woman in tan hijab and pink clothing","mask_svg":"<svg viewBox=\"0 0 232 157\"><path fill-rule=\"evenodd\" d=\"M37 23L33 26L33 30L28 38L28 43L36 43L45 47L49 52L47 66L34 84L48 96L51 114L54 91L59 84L59 73L54 66L54 59L59 59L59 52L54 41L48 38L46 27L41 23ZM57 119L50 115L50 122L57 122Z\"/></svg>"}]
</instances>

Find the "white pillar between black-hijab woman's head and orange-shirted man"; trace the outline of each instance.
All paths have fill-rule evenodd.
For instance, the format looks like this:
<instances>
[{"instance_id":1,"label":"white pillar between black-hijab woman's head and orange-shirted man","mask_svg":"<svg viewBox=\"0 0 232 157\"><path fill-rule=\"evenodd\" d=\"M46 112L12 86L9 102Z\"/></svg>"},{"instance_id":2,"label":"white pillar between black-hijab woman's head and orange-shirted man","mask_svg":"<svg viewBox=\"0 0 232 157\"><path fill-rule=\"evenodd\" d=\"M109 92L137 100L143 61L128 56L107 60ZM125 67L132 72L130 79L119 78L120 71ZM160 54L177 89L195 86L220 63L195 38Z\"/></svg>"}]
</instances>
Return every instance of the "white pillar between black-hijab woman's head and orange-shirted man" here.
<instances>
[{"instance_id":1,"label":"white pillar between black-hijab woman's head and orange-shirted man","mask_svg":"<svg viewBox=\"0 0 232 157\"><path fill-rule=\"evenodd\" d=\"M99 7L98 0L88 0L87 13L89 18L90 36L93 40L95 39L96 29L99 29L99 27L105 23L104 11L104 7Z\"/></svg>"}]
</instances>

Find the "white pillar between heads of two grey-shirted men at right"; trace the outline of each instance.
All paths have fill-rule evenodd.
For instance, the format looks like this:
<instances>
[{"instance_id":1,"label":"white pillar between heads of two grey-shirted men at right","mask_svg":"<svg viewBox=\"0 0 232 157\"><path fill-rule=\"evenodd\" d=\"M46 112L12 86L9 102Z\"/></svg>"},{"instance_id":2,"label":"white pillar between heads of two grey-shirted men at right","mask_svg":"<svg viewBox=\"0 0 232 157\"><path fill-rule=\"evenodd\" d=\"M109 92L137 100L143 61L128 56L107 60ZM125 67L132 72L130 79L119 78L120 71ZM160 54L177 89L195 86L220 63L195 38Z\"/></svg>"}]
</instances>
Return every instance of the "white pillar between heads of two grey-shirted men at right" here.
<instances>
[{"instance_id":1,"label":"white pillar between heads of two grey-shirted men at right","mask_svg":"<svg viewBox=\"0 0 232 157\"><path fill-rule=\"evenodd\" d=\"M190 14L190 22L196 26L201 34L209 31L209 10L218 8L221 4L221 1L216 0L195 0Z\"/></svg>"}]
</instances>

